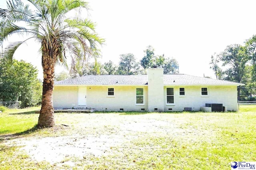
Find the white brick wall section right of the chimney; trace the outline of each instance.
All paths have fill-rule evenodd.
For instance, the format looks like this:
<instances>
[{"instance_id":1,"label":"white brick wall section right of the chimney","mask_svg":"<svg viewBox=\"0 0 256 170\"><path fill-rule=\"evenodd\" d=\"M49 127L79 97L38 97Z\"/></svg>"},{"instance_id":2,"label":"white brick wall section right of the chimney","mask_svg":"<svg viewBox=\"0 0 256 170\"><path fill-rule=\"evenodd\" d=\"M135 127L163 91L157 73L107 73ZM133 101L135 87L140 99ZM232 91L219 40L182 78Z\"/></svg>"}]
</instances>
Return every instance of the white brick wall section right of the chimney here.
<instances>
[{"instance_id":1,"label":"white brick wall section right of the chimney","mask_svg":"<svg viewBox=\"0 0 256 170\"><path fill-rule=\"evenodd\" d=\"M166 87L174 88L174 105L166 104ZM209 95L201 96L201 88L207 87ZM180 96L180 89L185 88L185 96ZM238 110L236 86L165 86L164 87L164 111L182 111L184 107L192 107L193 111L199 111L206 103L219 103L228 110Z\"/></svg>"}]
</instances>

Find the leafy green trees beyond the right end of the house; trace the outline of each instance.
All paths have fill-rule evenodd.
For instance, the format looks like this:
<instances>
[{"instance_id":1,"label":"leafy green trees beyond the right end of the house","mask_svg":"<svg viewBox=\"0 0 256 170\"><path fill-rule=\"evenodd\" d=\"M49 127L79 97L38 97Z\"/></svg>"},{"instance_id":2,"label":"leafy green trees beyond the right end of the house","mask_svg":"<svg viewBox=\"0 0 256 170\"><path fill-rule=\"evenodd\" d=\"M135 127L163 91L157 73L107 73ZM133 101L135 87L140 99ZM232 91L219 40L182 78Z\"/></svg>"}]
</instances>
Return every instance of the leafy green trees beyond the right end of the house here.
<instances>
[{"instance_id":1,"label":"leafy green trees beyond the right end of the house","mask_svg":"<svg viewBox=\"0 0 256 170\"><path fill-rule=\"evenodd\" d=\"M217 79L245 84L238 88L238 100L256 100L256 35L212 55L210 68Z\"/></svg>"}]
</instances>

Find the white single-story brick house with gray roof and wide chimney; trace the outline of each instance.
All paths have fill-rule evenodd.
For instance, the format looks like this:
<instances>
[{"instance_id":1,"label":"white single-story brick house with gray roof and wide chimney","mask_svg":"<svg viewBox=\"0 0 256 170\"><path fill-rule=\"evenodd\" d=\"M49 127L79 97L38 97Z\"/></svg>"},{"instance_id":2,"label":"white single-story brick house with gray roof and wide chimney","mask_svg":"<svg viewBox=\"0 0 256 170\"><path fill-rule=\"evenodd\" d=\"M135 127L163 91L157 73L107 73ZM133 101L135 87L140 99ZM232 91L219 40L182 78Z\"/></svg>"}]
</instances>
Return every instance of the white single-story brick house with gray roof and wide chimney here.
<instances>
[{"instance_id":1,"label":"white single-story brick house with gray roof and wide chimney","mask_svg":"<svg viewBox=\"0 0 256 170\"><path fill-rule=\"evenodd\" d=\"M163 74L148 68L147 75L89 75L57 81L53 105L97 111L199 111L206 104L238 110L237 86L244 84L190 76Z\"/></svg>"}]
</instances>

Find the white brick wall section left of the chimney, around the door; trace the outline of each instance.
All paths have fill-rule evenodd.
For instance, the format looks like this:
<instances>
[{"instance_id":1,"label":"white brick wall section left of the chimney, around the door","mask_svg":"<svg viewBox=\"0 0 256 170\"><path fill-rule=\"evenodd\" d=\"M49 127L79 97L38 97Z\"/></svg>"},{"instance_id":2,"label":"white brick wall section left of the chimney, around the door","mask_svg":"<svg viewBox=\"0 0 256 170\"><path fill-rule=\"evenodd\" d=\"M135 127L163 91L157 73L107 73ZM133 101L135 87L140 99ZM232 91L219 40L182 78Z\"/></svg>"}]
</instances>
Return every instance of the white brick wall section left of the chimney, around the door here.
<instances>
[{"instance_id":1,"label":"white brick wall section left of the chimney, around the door","mask_svg":"<svg viewBox=\"0 0 256 170\"><path fill-rule=\"evenodd\" d=\"M97 111L141 111L148 109L148 86L86 86L86 106L78 106L78 86L56 86L54 108L94 108ZM114 88L114 96L108 96ZM136 88L144 89L144 104L136 104Z\"/></svg>"}]
</instances>

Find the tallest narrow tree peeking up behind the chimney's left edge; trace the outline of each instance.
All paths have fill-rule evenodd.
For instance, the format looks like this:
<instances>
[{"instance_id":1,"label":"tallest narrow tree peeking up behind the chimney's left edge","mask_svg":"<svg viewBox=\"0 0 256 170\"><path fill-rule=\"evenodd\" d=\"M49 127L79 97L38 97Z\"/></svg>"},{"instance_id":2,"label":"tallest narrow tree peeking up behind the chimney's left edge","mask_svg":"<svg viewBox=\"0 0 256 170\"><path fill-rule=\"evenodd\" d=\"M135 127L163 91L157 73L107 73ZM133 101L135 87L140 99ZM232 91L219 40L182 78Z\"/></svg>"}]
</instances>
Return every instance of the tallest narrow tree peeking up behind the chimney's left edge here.
<instances>
[{"instance_id":1,"label":"tallest narrow tree peeking up behind the chimney's left edge","mask_svg":"<svg viewBox=\"0 0 256 170\"><path fill-rule=\"evenodd\" d=\"M153 66L154 59L154 48L149 45L146 50L144 50L144 57L140 60L141 66L146 69Z\"/></svg>"}]
</instances>

